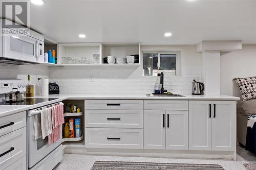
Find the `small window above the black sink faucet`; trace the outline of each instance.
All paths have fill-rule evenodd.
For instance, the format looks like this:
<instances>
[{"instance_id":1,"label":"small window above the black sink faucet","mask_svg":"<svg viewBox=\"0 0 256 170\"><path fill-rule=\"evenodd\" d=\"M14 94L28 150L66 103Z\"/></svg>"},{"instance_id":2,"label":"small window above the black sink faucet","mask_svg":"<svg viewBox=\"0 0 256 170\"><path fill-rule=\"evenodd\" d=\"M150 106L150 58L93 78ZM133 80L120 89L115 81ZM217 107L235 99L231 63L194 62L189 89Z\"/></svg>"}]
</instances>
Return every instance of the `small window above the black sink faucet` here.
<instances>
[{"instance_id":1,"label":"small window above the black sink faucet","mask_svg":"<svg viewBox=\"0 0 256 170\"><path fill-rule=\"evenodd\" d=\"M143 52L143 75L177 75L177 53Z\"/></svg>"}]
</instances>

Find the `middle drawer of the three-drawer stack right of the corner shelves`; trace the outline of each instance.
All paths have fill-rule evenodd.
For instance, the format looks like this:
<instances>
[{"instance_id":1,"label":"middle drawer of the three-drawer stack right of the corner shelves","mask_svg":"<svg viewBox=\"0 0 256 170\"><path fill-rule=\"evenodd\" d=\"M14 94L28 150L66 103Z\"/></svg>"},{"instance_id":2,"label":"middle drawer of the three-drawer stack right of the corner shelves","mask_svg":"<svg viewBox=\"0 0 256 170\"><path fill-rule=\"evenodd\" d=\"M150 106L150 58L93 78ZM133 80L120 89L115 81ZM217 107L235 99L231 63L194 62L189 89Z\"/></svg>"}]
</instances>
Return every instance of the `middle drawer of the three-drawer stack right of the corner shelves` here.
<instances>
[{"instance_id":1,"label":"middle drawer of the three-drawer stack right of the corner shelves","mask_svg":"<svg viewBox=\"0 0 256 170\"><path fill-rule=\"evenodd\" d=\"M86 127L142 128L143 110L86 110Z\"/></svg>"}]
</instances>

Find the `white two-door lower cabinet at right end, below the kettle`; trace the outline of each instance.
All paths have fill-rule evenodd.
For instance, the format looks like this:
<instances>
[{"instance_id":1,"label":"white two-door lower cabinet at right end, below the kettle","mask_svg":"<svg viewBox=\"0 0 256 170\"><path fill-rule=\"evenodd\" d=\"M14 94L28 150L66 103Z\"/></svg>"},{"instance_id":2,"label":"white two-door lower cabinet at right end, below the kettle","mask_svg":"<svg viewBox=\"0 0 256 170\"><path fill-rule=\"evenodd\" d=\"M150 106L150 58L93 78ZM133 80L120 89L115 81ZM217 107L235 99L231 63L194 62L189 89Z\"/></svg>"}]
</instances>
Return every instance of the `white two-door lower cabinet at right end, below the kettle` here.
<instances>
[{"instance_id":1,"label":"white two-door lower cabinet at right end, below the kettle","mask_svg":"<svg viewBox=\"0 0 256 170\"><path fill-rule=\"evenodd\" d=\"M234 151L235 101L189 101L189 150Z\"/></svg>"}]
</instances>

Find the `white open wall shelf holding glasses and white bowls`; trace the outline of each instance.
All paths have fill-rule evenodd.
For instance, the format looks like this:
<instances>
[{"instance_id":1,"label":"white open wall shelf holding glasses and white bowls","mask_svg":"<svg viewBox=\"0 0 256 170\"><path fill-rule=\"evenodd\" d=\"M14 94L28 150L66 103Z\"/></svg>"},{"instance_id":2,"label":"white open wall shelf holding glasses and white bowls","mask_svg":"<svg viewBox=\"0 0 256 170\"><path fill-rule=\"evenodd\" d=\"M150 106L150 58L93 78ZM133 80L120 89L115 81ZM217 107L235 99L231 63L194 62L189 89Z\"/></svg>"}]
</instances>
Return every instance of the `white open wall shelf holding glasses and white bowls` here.
<instances>
[{"instance_id":1,"label":"white open wall shelf holding glasses and white bowls","mask_svg":"<svg viewBox=\"0 0 256 170\"><path fill-rule=\"evenodd\" d=\"M47 48L53 49L50 41L46 40ZM45 63L47 66L139 66L139 63L104 63L103 58L110 55L125 58L140 54L138 42L95 42L95 43L58 43L57 64ZM56 51L57 51L56 50Z\"/></svg>"}]
</instances>

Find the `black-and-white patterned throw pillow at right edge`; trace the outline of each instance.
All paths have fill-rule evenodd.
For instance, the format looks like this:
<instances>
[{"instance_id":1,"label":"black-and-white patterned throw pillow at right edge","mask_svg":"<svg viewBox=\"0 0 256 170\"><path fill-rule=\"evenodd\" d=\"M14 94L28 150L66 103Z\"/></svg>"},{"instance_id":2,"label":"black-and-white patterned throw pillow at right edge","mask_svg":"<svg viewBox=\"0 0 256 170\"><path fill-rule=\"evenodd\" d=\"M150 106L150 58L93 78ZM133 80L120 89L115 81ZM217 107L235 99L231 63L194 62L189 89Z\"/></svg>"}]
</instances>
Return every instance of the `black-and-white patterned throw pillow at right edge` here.
<instances>
[{"instance_id":1,"label":"black-and-white patterned throw pillow at right edge","mask_svg":"<svg viewBox=\"0 0 256 170\"><path fill-rule=\"evenodd\" d=\"M240 89L243 101L256 98L256 77L234 78L234 81Z\"/></svg>"}]
</instances>

